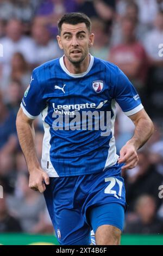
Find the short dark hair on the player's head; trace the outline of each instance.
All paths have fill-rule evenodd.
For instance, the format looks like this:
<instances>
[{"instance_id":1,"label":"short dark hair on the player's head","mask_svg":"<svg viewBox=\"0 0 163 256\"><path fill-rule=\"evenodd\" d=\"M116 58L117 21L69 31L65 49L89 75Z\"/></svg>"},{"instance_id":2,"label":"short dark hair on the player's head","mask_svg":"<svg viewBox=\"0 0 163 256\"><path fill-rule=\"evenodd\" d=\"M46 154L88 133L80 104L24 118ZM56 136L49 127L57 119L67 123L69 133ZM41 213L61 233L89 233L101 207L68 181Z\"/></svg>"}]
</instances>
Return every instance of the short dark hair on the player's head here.
<instances>
[{"instance_id":1,"label":"short dark hair on the player's head","mask_svg":"<svg viewBox=\"0 0 163 256\"><path fill-rule=\"evenodd\" d=\"M88 16L83 13L66 13L58 21L58 32L61 33L62 24L77 25L78 23L85 23L88 31L91 33L91 21Z\"/></svg>"}]
</instances>

